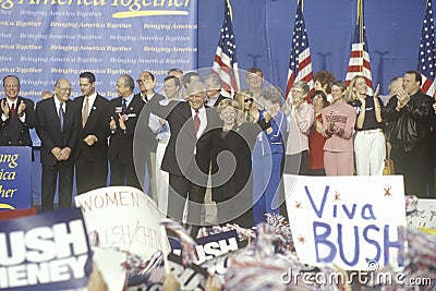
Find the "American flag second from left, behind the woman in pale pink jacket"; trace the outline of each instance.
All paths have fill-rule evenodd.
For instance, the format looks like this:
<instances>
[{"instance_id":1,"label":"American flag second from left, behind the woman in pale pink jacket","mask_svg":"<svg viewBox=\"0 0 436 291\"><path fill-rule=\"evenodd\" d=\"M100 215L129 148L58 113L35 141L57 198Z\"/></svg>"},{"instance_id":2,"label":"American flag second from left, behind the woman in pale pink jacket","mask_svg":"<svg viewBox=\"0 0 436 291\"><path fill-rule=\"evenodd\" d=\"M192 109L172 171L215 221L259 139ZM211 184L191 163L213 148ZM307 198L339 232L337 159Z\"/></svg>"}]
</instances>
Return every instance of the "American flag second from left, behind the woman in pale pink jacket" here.
<instances>
[{"instance_id":1,"label":"American flag second from left, behind the woman in pale pink jacket","mask_svg":"<svg viewBox=\"0 0 436 291\"><path fill-rule=\"evenodd\" d=\"M304 24L303 11L300 2L296 4L295 24L293 26L286 98L290 97L292 85L296 81L306 82L311 92L313 90L314 82L311 49L308 48L306 25Z\"/></svg>"}]
</instances>

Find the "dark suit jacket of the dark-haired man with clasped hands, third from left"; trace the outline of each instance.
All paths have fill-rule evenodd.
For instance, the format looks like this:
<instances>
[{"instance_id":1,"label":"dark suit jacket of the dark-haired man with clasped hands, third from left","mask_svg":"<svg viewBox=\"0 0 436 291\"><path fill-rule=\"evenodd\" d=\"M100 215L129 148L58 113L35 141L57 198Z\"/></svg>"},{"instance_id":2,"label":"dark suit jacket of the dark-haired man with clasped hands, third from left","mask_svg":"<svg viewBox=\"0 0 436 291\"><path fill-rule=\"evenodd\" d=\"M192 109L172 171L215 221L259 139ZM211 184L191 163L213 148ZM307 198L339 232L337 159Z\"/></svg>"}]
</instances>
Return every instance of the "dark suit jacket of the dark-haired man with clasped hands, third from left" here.
<instances>
[{"instance_id":1,"label":"dark suit jacket of the dark-haired man with clasped hands, third from left","mask_svg":"<svg viewBox=\"0 0 436 291\"><path fill-rule=\"evenodd\" d=\"M84 96L78 96L74 99L76 107L76 114L80 117L81 123L78 125L77 148L75 158L83 158L86 161L106 160L108 158L108 135L109 119L108 107L109 100L97 94L85 128L82 126L82 108L85 100ZM97 143L88 146L83 140L88 135L97 136Z\"/></svg>"}]
</instances>

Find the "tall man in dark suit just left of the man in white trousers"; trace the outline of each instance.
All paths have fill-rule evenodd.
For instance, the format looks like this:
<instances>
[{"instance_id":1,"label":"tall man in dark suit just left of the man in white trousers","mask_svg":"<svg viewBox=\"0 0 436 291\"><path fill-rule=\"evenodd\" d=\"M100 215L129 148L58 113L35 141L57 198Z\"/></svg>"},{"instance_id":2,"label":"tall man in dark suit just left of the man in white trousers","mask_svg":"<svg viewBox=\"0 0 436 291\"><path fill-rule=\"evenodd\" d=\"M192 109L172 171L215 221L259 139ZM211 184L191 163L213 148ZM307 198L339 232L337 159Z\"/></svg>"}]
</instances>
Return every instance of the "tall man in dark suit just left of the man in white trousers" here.
<instances>
[{"instance_id":1,"label":"tall man in dark suit just left of the man in white trousers","mask_svg":"<svg viewBox=\"0 0 436 291\"><path fill-rule=\"evenodd\" d=\"M146 141L146 143L142 143L141 154L140 155L135 154L135 157L138 158L137 160L138 161L141 160L141 162L136 165L136 173L140 177L140 179L144 178L146 175L145 169L147 169L149 183L148 187L144 189L144 191L157 202L156 177L154 174L155 172L154 169L156 167L155 161L156 161L157 141L156 141L156 134L153 133L152 130L148 128L148 122L149 122L152 104L164 100L165 96L155 92L156 78L152 72L149 71L142 72L136 82L137 86L140 87L140 93L136 94L135 96L140 96L145 104L145 107L138 120L140 124L142 125L136 130L136 134L140 141Z\"/></svg>"}]
</instances>

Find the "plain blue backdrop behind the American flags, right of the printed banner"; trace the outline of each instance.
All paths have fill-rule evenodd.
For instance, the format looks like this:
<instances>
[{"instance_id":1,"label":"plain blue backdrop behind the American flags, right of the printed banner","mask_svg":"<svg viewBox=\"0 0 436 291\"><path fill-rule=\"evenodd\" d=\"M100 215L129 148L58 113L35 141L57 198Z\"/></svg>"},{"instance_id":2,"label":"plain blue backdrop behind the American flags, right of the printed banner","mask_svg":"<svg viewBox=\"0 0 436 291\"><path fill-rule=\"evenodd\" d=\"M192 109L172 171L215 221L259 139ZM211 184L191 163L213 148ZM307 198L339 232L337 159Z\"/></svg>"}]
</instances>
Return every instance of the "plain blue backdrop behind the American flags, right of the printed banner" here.
<instances>
[{"instance_id":1,"label":"plain blue backdrop behind the American flags, right of the printed banner","mask_svg":"<svg viewBox=\"0 0 436 291\"><path fill-rule=\"evenodd\" d=\"M314 72L344 80L356 20L356 0L305 0ZM225 0L198 1L198 65L210 66L222 24ZM256 65L284 89L295 0L231 0L239 68ZM389 81L416 69L426 0L364 0L373 84L387 94Z\"/></svg>"}]
</instances>

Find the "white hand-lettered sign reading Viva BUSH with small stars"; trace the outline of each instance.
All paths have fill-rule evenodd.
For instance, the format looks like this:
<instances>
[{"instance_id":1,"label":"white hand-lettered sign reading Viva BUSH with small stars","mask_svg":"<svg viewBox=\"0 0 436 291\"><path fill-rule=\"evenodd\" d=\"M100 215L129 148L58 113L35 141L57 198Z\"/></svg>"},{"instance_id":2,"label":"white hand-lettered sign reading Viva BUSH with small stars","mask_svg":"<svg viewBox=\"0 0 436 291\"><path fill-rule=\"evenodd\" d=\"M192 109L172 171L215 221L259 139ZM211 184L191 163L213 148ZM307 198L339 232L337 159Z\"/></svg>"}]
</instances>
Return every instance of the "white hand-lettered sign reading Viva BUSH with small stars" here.
<instances>
[{"instance_id":1,"label":"white hand-lettered sign reading Viva BUSH with small stars","mask_svg":"<svg viewBox=\"0 0 436 291\"><path fill-rule=\"evenodd\" d=\"M405 226L401 175L284 175L296 254L310 265L346 270L402 266L397 227Z\"/></svg>"}]
</instances>

